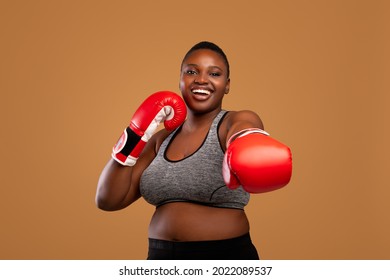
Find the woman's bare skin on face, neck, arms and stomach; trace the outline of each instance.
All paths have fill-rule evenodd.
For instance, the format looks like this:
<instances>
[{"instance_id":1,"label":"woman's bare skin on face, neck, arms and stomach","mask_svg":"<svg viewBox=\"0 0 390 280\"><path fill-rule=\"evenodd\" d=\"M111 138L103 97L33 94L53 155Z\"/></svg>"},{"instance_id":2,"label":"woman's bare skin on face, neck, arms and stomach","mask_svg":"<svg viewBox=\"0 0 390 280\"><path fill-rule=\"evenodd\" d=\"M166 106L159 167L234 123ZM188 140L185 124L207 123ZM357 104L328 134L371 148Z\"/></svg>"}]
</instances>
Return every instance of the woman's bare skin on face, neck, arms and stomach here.
<instances>
[{"instance_id":1,"label":"woman's bare skin on face, neck, arms and stomach","mask_svg":"<svg viewBox=\"0 0 390 280\"><path fill-rule=\"evenodd\" d=\"M221 111L223 97L230 89L224 60L211 50L194 51L183 61L179 87L188 113L180 132L167 150L166 155L170 160L181 160L193 154ZM223 149L226 149L227 140L234 133L253 127L263 129L256 113L229 112L218 131ZM165 129L155 133L132 167L109 160L98 182L96 203L99 208L120 210L141 197L140 177L168 135ZM172 202L156 208L149 226L149 237L172 241L218 240L237 237L248 231L249 222L242 210Z\"/></svg>"}]
</instances>

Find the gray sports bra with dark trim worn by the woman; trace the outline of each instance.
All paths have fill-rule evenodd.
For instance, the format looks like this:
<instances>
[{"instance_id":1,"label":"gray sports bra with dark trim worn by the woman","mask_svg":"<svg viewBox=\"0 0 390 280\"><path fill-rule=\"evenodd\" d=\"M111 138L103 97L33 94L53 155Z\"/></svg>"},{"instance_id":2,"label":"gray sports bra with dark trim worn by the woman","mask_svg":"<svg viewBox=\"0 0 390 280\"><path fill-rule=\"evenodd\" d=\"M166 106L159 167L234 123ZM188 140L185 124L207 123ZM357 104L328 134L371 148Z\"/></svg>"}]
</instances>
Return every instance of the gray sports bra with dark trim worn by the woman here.
<instances>
[{"instance_id":1,"label":"gray sports bra with dark trim worn by the woman","mask_svg":"<svg viewBox=\"0 0 390 280\"><path fill-rule=\"evenodd\" d=\"M140 192L152 205L169 202L192 202L214 207L243 209L249 194L241 187L230 190L222 177L224 152L218 137L218 127L227 112L214 119L202 145L188 157L172 161L166 150L180 128L161 144L157 156L141 176Z\"/></svg>"}]
</instances>

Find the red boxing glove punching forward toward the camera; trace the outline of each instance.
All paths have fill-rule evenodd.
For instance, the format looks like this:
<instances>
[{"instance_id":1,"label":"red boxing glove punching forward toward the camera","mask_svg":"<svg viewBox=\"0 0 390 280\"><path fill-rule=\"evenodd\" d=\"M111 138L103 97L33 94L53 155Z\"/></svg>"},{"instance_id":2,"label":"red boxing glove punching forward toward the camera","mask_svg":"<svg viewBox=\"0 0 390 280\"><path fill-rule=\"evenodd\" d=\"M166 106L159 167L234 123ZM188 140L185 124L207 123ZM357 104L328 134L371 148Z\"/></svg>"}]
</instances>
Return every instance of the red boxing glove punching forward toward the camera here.
<instances>
[{"instance_id":1,"label":"red boxing glove punching forward toward the camera","mask_svg":"<svg viewBox=\"0 0 390 280\"><path fill-rule=\"evenodd\" d=\"M263 193L282 188L291 179L291 150L264 130L242 130L228 141L222 174L230 189Z\"/></svg>"}]
</instances>

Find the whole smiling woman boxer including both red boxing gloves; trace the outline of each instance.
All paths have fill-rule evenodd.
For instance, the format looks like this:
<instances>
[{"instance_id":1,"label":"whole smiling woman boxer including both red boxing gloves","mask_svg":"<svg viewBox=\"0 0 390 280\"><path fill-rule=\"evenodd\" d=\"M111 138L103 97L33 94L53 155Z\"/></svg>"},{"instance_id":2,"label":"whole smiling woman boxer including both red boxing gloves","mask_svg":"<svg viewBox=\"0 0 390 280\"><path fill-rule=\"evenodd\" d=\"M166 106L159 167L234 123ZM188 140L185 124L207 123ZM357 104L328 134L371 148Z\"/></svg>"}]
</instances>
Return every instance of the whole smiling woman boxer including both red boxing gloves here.
<instances>
[{"instance_id":1,"label":"whole smiling woman boxer including both red boxing gloves","mask_svg":"<svg viewBox=\"0 0 390 280\"><path fill-rule=\"evenodd\" d=\"M289 182L291 152L256 113L222 109L229 71L217 45L191 48L181 65L184 102L151 95L100 176L99 208L119 210L141 196L156 207L148 259L259 259L244 207L250 193ZM152 135L164 119L168 129Z\"/></svg>"}]
</instances>

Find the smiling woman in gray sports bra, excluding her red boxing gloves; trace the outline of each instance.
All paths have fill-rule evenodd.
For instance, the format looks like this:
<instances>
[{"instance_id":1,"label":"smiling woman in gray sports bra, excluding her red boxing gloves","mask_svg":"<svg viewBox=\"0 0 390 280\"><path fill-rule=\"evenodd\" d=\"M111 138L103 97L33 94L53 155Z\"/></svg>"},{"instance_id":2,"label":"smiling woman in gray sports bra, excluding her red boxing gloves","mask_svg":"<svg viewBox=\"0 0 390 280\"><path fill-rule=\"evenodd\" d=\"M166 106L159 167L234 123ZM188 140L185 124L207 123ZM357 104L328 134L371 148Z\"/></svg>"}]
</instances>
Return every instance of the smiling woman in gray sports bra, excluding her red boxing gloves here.
<instances>
[{"instance_id":1,"label":"smiling woman in gray sports bra, excluding her red boxing gloves","mask_svg":"<svg viewBox=\"0 0 390 280\"><path fill-rule=\"evenodd\" d=\"M148 259L259 259L244 212L249 194L226 187L221 170L228 139L263 124L254 112L222 110L229 88L224 52L196 44L181 65L186 120L155 133L133 166L111 159L101 174L99 208L119 210L141 196L156 206Z\"/></svg>"}]
</instances>

